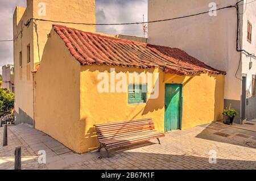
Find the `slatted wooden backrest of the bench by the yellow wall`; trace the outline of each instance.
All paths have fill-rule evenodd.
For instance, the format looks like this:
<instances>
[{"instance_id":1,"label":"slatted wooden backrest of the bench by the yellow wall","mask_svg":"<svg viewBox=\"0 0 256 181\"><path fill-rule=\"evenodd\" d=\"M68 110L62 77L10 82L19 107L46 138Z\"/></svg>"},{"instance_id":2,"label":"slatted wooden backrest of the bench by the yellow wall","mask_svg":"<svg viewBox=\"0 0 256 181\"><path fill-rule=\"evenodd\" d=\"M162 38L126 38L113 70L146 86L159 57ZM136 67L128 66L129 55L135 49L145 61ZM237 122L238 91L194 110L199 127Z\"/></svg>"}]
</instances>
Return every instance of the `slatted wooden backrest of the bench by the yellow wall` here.
<instances>
[{"instance_id":1,"label":"slatted wooden backrest of the bench by the yellow wall","mask_svg":"<svg viewBox=\"0 0 256 181\"><path fill-rule=\"evenodd\" d=\"M99 141L112 140L123 136L135 136L141 132L148 132L155 129L153 120L138 119L115 123L95 124Z\"/></svg>"}]
</instances>

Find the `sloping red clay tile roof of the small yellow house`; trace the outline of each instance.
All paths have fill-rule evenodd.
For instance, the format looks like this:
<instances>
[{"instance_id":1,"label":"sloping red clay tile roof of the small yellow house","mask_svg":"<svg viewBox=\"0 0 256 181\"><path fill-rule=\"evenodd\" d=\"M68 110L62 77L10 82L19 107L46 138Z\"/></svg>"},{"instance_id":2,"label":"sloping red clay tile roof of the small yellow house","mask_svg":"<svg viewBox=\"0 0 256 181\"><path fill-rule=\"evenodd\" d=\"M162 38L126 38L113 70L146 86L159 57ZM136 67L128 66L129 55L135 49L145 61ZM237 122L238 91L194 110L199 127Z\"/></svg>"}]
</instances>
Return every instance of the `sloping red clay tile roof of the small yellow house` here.
<instances>
[{"instance_id":1,"label":"sloping red clay tile roof of the small yellow house","mask_svg":"<svg viewBox=\"0 0 256 181\"><path fill-rule=\"evenodd\" d=\"M178 75L225 74L181 49L117 39L59 25L53 25L53 28L82 65L161 68Z\"/></svg>"}]
</instances>

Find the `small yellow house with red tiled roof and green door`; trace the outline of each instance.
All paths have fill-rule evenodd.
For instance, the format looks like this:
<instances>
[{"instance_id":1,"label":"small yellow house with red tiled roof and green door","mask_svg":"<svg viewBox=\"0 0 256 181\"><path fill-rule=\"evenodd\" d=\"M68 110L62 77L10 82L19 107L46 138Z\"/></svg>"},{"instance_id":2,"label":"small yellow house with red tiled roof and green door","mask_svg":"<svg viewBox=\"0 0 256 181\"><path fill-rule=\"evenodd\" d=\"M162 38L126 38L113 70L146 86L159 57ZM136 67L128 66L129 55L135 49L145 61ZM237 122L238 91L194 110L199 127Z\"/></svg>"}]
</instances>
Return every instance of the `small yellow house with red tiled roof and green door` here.
<instances>
[{"instance_id":1,"label":"small yellow house with red tiled roof and green door","mask_svg":"<svg viewBox=\"0 0 256 181\"><path fill-rule=\"evenodd\" d=\"M152 118L159 131L222 119L225 72L183 50L53 25L34 71L35 128L77 153L93 124Z\"/></svg>"}]
</instances>

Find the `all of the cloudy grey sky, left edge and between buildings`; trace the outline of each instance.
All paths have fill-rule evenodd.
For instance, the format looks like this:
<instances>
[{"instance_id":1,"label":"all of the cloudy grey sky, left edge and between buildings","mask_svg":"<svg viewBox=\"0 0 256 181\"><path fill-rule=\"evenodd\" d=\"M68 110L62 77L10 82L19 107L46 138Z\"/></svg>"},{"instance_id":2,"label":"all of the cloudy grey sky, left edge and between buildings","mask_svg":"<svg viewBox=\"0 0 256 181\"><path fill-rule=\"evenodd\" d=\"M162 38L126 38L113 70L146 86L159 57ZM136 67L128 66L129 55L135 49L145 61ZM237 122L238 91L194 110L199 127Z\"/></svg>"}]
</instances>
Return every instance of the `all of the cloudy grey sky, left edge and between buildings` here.
<instances>
[{"instance_id":1,"label":"all of the cloudy grey sky, left edge and between buildings","mask_svg":"<svg viewBox=\"0 0 256 181\"><path fill-rule=\"evenodd\" d=\"M0 40L13 39L13 12L26 7L26 0L0 0ZM147 0L96 0L96 23L130 23L147 21ZM143 37L141 24L97 26L97 32ZM13 42L0 42L0 74L2 66L13 64Z\"/></svg>"}]
</instances>

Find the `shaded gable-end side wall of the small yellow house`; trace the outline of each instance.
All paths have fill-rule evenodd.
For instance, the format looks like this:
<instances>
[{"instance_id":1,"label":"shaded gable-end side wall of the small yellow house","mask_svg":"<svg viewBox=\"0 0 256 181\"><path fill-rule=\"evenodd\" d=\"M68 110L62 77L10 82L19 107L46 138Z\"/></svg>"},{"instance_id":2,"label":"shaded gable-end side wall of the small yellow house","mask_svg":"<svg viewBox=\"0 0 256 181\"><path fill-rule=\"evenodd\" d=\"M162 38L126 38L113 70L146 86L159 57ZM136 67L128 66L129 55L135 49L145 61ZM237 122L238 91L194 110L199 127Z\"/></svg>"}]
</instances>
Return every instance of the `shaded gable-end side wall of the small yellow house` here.
<instances>
[{"instance_id":1,"label":"shaded gable-end side wall of the small yellow house","mask_svg":"<svg viewBox=\"0 0 256 181\"><path fill-rule=\"evenodd\" d=\"M80 64L53 30L35 82L35 128L79 152Z\"/></svg>"}]
</instances>

